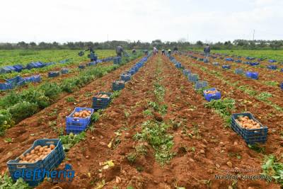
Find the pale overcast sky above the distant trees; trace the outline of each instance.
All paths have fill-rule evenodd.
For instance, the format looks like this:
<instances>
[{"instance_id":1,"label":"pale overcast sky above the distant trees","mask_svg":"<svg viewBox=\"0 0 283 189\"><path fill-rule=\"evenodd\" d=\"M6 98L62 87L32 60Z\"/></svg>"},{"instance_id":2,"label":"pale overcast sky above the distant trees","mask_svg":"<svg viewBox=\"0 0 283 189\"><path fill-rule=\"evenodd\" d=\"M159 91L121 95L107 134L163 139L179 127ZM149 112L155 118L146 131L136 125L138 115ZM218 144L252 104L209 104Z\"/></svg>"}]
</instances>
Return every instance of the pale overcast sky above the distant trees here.
<instances>
[{"instance_id":1,"label":"pale overcast sky above the distant trees","mask_svg":"<svg viewBox=\"0 0 283 189\"><path fill-rule=\"evenodd\" d=\"M282 40L282 0L1 0L0 42Z\"/></svg>"}]
</instances>

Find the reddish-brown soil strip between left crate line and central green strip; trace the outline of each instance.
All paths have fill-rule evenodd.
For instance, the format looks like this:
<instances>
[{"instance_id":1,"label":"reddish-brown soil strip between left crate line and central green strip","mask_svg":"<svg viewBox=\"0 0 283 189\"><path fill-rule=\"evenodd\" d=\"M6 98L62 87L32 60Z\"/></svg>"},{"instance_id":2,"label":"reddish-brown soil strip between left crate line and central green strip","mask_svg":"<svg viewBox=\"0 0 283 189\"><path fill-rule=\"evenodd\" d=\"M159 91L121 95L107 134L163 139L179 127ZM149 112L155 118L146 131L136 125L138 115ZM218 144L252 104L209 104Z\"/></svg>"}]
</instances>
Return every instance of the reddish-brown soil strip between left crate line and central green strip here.
<instances>
[{"instance_id":1,"label":"reddish-brown soil strip between left crate line and central green strip","mask_svg":"<svg viewBox=\"0 0 283 189\"><path fill-rule=\"evenodd\" d=\"M120 96L115 98L110 107L103 111L103 117L93 124L95 131L88 130L86 140L69 151L67 155L69 161L66 163L73 166L76 177L71 184L59 183L62 188L93 188L103 179L109 182L115 180L115 176L120 176L121 172L125 173L125 166L128 165L125 163L125 165L120 165L120 162L125 161L122 156L132 150L134 146L132 135L135 134L137 126L146 120L143 115L147 106L146 101L150 101L154 96L153 82L155 79L152 73L155 68L153 63L154 58L149 59L146 65L132 76ZM110 88L110 85L105 87ZM129 115L126 116L125 113ZM115 138L117 130L120 130L121 142L116 149L110 149L107 145ZM103 171L99 176L98 169L102 168L99 164L109 160L114 161L115 167ZM88 176L88 173L91 176ZM126 173L129 172L126 170ZM127 179L131 181L131 178ZM45 182L38 188L48 187L50 183Z\"/></svg>"}]
</instances>

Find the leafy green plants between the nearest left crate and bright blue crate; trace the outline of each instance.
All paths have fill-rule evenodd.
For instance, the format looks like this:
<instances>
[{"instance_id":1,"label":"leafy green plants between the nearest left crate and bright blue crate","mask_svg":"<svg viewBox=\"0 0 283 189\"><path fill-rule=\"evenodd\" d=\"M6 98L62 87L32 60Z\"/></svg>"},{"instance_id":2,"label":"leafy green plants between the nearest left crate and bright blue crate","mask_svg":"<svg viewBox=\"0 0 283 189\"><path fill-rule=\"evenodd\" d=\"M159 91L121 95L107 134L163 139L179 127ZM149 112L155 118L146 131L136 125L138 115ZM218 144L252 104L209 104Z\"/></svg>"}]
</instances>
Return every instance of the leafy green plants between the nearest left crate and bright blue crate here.
<instances>
[{"instance_id":1,"label":"leafy green plants between the nearest left crate and bright blue crate","mask_svg":"<svg viewBox=\"0 0 283 189\"><path fill-rule=\"evenodd\" d=\"M70 133L69 135L62 135L59 137L63 144L64 151L69 151L71 147L74 147L75 144L78 144L82 140L86 139L86 132L81 132L80 134Z\"/></svg>"}]
</instances>

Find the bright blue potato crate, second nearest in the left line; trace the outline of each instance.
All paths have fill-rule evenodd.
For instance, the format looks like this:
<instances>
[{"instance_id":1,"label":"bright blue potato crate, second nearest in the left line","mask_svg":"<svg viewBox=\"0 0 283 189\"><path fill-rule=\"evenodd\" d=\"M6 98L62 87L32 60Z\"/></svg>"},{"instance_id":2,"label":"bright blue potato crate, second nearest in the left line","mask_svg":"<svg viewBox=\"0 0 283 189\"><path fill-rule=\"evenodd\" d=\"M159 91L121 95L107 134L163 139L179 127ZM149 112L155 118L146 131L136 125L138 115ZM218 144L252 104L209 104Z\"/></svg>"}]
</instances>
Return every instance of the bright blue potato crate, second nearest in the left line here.
<instances>
[{"instance_id":1,"label":"bright blue potato crate, second nearest in the left line","mask_svg":"<svg viewBox=\"0 0 283 189\"><path fill-rule=\"evenodd\" d=\"M75 110L66 117L66 132L79 134L86 130L86 127L91 123L91 115L87 118L73 118L74 113L79 112L81 110L88 110L91 111L91 115L93 114L93 108L81 108L76 107Z\"/></svg>"}]
</instances>

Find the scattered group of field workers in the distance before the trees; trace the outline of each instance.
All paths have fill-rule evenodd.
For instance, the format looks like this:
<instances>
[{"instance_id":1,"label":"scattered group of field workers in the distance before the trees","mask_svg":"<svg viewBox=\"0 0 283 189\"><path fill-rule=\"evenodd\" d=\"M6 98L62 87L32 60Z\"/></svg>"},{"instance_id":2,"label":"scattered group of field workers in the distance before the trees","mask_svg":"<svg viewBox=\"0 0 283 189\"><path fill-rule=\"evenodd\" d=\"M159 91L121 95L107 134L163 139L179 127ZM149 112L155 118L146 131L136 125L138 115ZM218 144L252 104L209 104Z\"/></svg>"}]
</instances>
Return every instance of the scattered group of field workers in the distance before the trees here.
<instances>
[{"instance_id":1,"label":"scattered group of field workers in the distance before the trees","mask_svg":"<svg viewBox=\"0 0 283 189\"><path fill-rule=\"evenodd\" d=\"M95 51L93 50L93 48L91 46L88 46L88 49L84 50L84 51L89 51L90 52L91 62L97 60L97 57L95 55ZM178 47L174 47L173 51L174 51L175 54L177 54L178 53ZM168 52L168 55L171 55L171 49L168 49L167 52ZM122 53L125 55L126 52L125 52L125 50L123 49L123 47L121 45L118 45L116 47L117 57L122 57ZM156 47L154 47L153 53L154 53L154 55L158 54L158 50L157 50ZM132 50L132 54L136 55L137 51L135 49L133 49ZM206 59L208 59L209 54L210 54L210 46L206 44L205 47L204 47L204 57ZM144 55L149 55L149 51L148 50L144 50ZM164 49L161 50L161 55L165 55L165 50Z\"/></svg>"}]
</instances>

